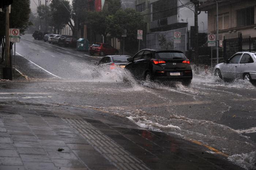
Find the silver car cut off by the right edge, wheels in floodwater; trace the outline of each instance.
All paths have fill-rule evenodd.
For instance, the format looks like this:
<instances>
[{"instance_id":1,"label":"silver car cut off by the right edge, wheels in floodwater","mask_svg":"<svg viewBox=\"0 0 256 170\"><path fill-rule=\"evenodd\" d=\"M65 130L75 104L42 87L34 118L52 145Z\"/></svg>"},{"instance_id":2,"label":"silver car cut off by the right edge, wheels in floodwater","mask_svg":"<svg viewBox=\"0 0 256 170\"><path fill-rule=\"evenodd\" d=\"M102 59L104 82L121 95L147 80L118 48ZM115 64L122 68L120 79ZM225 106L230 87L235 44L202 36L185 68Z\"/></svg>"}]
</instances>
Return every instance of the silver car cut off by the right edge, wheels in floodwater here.
<instances>
[{"instance_id":1,"label":"silver car cut off by the right edge, wheels in floodwater","mask_svg":"<svg viewBox=\"0 0 256 170\"><path fill-rule=\"evenodd\" d=\"M244 79L256 86L256 53L238 52L214 67L215 76L224 80Z\"/></svg>"}]
</instances>

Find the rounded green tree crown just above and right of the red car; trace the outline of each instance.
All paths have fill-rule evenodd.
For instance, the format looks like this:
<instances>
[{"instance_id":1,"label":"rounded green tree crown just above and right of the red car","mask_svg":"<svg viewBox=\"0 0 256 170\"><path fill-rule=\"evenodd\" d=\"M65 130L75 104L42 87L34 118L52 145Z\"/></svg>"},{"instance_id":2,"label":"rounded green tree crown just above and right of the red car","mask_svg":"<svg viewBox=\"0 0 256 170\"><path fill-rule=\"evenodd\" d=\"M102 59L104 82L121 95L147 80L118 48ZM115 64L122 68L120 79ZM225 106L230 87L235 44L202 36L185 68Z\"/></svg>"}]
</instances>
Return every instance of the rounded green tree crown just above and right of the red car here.
<instances>
[{"instance_id":1,"label":"rounded green tree crown just above and right of the red car","mask_svg":"<svg viewBox=\"0 0 256 170\"><path fill-rule=\"evenodd\" d=\"M124 29L127 29L127 38L131 41L137 41L137 30L143 28L143 17L139 15L139 12L131 8L118 10L106 18L107 32L111 37L121 39Z\"/></svg>"}]
</instances>

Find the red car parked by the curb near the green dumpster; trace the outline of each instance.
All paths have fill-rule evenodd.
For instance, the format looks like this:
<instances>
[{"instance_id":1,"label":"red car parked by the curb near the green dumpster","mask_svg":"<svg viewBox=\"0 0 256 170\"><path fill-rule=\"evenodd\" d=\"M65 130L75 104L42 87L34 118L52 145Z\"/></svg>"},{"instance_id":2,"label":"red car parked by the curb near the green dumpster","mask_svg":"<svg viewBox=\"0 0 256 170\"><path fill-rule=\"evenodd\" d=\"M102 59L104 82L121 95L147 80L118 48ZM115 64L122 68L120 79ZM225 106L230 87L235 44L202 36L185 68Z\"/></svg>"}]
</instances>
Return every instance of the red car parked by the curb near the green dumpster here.
<instances>
[{"instance_id":1,"label":"red car parked by the curb near the green dumpster","mask_svg":"<svg viewBox=\"0 0 256 170\"><path fill-rule=\"evenodd\" d=\"M118 50L111 45L97 42L90 46L89 52L91 55L99 54L100 56L118 54Z\"/></svg>"}]
</instances>

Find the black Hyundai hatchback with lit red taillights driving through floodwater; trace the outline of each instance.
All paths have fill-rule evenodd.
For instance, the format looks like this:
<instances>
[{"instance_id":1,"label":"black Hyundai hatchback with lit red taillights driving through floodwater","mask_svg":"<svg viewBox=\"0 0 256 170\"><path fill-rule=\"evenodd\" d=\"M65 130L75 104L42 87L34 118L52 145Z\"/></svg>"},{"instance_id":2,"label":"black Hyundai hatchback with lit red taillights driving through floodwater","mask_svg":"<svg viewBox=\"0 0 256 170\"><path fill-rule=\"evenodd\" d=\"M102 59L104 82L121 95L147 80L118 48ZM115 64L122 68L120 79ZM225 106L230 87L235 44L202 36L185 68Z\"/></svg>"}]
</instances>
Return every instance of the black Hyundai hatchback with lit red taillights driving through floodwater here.
<instances>
[{"instance_id":1,"label":"black Hyundai hatchback with lit red taillights driving through floodwater","mask_svg":"<svg viewBox=\"0 0 256 170\"><path fill-rule=\"evenodd\" d=\"M190 61L178 50L144 49L127 60L129 63L125 68L138 79L161 82L176 80L189 86L193 77Z\"/></svg>"}]
</instances>

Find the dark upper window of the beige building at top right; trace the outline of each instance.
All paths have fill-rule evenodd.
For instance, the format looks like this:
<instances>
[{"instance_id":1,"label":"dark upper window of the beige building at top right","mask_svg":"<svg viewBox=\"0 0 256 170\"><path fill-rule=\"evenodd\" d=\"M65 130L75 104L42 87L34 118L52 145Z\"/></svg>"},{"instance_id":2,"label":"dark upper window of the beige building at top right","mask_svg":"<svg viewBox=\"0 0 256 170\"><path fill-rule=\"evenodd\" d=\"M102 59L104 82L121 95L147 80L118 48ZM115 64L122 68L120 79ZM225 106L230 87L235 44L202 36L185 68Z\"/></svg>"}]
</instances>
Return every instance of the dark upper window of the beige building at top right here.
<instances>
[{"instance_id":1,"label":"dark upper window of the beige building at top right","mask_svg":"<svg viewBox=\"0 0 256 170\"><path fill-rule=\"evenodd\" d=\"M254 24L254 7L237 10L237 27Z\"/></svg>"}]
</instances>

